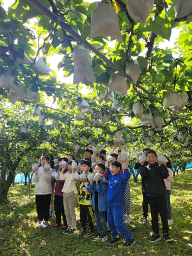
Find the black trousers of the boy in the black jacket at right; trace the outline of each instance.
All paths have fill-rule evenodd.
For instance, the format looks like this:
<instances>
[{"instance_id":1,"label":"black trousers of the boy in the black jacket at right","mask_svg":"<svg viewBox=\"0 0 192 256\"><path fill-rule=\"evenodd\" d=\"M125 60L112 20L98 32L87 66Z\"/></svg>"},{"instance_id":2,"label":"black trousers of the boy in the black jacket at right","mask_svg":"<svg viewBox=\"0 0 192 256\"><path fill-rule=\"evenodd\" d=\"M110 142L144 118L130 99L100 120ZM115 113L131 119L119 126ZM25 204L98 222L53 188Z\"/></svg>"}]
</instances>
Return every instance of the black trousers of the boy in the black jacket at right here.
<instances>
[{"instance_id":1,"label":"black trousers of the boy in the black jacket at right","mask_svg":"<svg viewBox=\"0 0 192 256\"><path fill-rule=\"evenodd\" d=\"M166 196L148 196L150 205L151 223L154 234L159 234L158 214L161 216L163 234L169 232L167 221Z\"/></svg>"}]
</instances>

